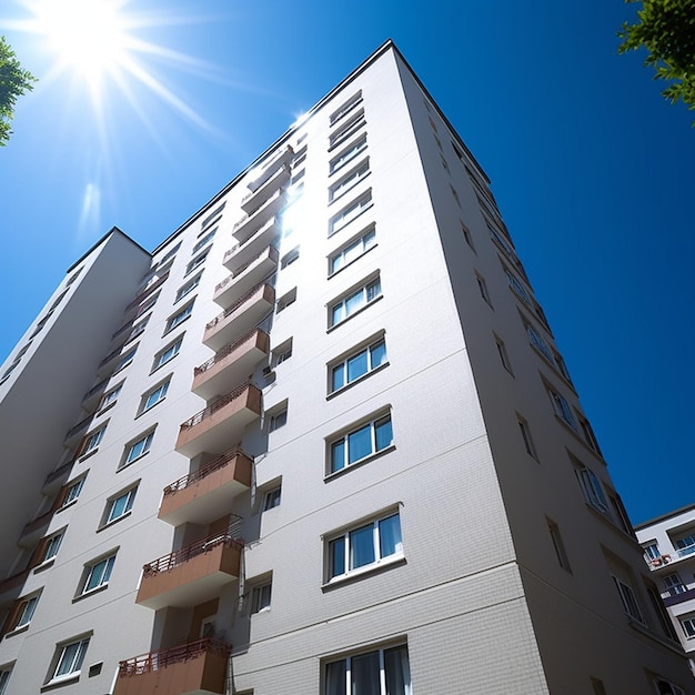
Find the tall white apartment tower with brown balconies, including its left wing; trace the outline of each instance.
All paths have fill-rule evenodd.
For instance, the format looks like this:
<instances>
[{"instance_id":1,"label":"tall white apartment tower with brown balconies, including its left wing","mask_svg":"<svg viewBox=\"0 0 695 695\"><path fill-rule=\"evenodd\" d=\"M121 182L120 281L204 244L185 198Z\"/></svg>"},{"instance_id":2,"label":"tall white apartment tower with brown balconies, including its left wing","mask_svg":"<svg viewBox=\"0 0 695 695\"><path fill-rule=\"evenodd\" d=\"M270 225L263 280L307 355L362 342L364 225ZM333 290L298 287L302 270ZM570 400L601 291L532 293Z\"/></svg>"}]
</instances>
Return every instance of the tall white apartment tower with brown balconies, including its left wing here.
<instances>
[{"instance_id":1,"label":"tall white apartment tower with brown balconies, including its left wing","mask_svg":"<svg viewBox=\"0 0 695 695\"><path fill-rule=\"evenodd\" d=\"M693 693L479 163L386 42L0 371L0 693Z\"/></svg>"}]
</instances>

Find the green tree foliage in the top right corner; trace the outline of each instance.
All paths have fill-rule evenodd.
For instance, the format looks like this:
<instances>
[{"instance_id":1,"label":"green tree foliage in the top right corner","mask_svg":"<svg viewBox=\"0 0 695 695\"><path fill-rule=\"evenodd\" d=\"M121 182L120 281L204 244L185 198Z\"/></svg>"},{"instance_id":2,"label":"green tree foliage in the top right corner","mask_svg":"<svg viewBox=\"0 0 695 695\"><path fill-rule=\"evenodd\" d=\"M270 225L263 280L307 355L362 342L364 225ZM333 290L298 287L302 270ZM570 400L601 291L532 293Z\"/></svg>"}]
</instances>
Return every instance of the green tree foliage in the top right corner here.
<instances>
[{"instance_id":1,"label":"green tree foliage in the top right corner","mask_svg":"<svg viewBox=\"0 0 695 695\"><path fill-rule=\"evenodd\" d=\"M635 2L635 0L625 0ZM695 0L643 0L638 21L623 23L620 53L647 49L645 66L653 66L655 80L671 84L662 92L675 103L695 109ZM695 125L695 122L693 123Z\"/></svg>"}]
</instances>

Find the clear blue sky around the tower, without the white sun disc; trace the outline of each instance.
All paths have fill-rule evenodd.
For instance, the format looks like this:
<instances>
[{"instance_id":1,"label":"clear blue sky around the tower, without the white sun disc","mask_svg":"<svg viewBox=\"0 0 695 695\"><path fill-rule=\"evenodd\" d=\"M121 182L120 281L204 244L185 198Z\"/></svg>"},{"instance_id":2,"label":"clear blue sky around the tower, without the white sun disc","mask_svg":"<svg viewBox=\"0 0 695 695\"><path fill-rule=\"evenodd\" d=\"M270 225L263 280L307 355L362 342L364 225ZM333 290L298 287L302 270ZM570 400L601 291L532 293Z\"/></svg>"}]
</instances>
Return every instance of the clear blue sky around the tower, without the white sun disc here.
<instances>
[{"instance_id":1,"label":"clear blue sky around the tower, without the white sun disc","mask_svg":"<svg viewBox=\"0 0 695 695\"><path fill-rule=\"evenodd\" d=\"M105 231L154 248L392 38L492 179L633 522L695 502L695 113L617 56L636 6L120 0L165 50L95 109L28 1L0 9L41 80L0 150L0 359Z\"/></svg>"}]
</instances>

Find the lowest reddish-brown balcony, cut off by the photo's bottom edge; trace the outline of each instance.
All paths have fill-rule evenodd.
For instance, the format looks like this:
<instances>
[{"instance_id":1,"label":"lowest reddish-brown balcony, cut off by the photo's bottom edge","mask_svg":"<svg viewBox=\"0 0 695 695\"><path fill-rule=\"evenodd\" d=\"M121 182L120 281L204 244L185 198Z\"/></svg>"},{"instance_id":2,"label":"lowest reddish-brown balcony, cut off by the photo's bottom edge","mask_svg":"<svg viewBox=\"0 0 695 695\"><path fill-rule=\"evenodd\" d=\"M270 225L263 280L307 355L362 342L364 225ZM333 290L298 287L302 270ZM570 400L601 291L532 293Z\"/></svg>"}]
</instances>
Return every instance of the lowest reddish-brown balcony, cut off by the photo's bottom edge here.
<instances>
[{"instance_id":1,"label":"lowest reddish-brown balcony, cut off by the photo's bottom edge","mask_svg":"<svg viewBox=\"0 0 695 695\"><path fill-rule=\"evenodd\" d=\"M119 664L113 695L224 693L231 645L198 639Z\"/></svg>"}]
</instances>

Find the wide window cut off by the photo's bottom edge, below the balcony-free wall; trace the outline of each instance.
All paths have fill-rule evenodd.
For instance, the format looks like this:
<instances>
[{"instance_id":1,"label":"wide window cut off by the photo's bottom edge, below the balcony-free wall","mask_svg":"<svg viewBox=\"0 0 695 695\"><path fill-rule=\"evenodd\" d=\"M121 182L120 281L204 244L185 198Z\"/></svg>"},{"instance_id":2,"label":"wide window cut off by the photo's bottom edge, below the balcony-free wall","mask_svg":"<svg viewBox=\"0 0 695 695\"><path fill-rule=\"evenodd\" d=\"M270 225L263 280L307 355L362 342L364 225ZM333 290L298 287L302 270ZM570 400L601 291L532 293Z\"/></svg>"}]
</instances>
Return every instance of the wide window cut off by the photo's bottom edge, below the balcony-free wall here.
<instances>
[{"instance_id":1,"label":"wide window cut off by the photo's bottom edge, below the balcony-free wall","mask_svg":"<svg viewBox=\"0 0 695 695\"><path fill-rule=\"evenodd\" d=\"M356 654L325 665L325 695L412 695L407 647Z\"/></svg>"}]
</instances>

